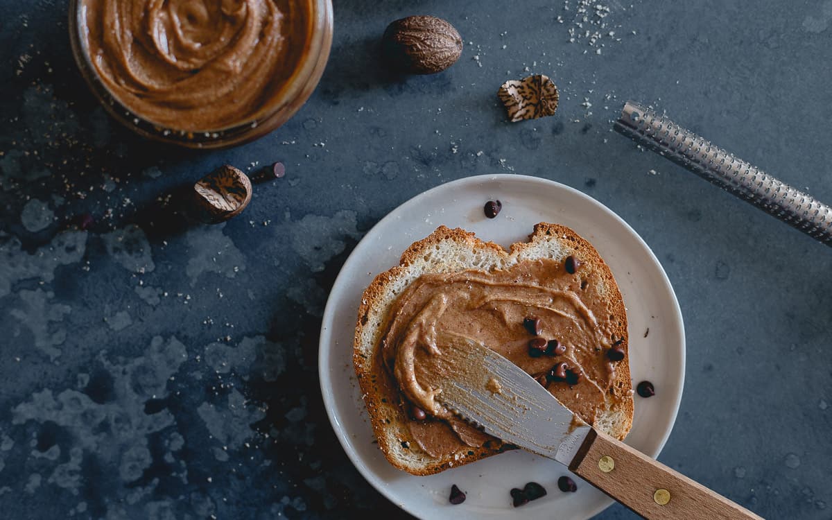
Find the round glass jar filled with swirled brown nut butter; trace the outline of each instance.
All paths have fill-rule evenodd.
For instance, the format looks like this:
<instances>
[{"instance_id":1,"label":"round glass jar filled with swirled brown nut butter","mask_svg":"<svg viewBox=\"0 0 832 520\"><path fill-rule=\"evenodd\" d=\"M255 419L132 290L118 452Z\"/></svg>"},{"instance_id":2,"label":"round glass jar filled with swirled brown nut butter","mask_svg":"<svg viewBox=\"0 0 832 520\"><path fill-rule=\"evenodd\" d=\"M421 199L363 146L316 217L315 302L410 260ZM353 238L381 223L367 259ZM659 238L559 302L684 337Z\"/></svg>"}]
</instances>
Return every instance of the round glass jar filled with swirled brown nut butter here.
<instances>
[{"instance_id":1,"label":"round glass jar filled with swirled brown nut butter","mask_svg":"<svg viewBox=\"0 0 832 520\"><path fill-rule=\"evenodd\" d=\"M78 67L142 136L220 148L274 130L310 97L331 0L72 0Z\"/></svg>"}]
</instances>

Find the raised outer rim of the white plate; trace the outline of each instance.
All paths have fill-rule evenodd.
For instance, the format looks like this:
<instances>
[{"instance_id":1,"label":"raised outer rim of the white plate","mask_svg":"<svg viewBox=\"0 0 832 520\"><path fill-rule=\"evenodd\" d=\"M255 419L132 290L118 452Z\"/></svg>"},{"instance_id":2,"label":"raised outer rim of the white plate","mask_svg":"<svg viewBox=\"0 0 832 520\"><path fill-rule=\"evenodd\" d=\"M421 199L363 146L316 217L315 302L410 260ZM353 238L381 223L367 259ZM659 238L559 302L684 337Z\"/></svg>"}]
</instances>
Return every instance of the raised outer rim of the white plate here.
<instances>
[{"instance_id":1,"label":"raised outer rim of the white plate","mask_svg":"<svg viewBox=\"0 0 832 520\"><path fill-rule=\"evenodd\" d=\"M685 389L685 374L686 374L686 354L687 354L687 345L686 345L686 334L685 334L685 321L681 314L681 307L679 305L679 300L676 298L676 291L673 290L673 286L671 285L671 281L667 276L667 273L664 270L664 267L661 265L661 262L656 258L656 254L653 253L650 246L647 245L646 241L641 238L636 230L629 225L626 220L624 220L620 215L618 215L615 211L611 210L609 207L604 205L601 201L597 201L592 196L587 195L586 193L573 188L572 186L568 186L563 184L562 182L552 181L551 179L546 179L543 177L537 176L528 176L528 175L521 175L521 174L510 174L510 173L498 173L498 174L484 174L484 175L475 175L475 176L466 176L461 177L459 179L455 179L453 181L443 182L442 184L438 184L437 186L433 186L428 190L421 191L417 195L410 197L408 200L400 203L398 206L394 207L394 209L389 210L389 212L384 215L378 222L376 222L372 227L369 228L364 233L364 236L361 237L358 244L355 245L354 249L349 253L347 260L344 260L344 264L341 265L339 270L338 276L335 277L334 283L332 288L329 290L329 295L327 295L326 305L324 307L324 314L321 319L321 328L319 334L319 341L318 341L318 379L319 379L319 389L321 392L321 396L324 400L324 409L326 409L327 418L329 418L329 425L333 429L335 433L335 437L338 438L338 442L341 445L341 448L344 449L344 453L346 453L347 458L349 458L349 462L353 464L354 468L358 470L361 476L366 480L376 491L381 493L384 498L387 498L389 502L394 503L396 506L404 510L406 513L414 515L417 518L423 518L423 515L419 515L411 510L411 508L407 507L404 503L399 503L394 497L394 494L389 492L387 488L384 487L383 483L375 482L377 480L374 473L371 473L369 467L366 463L364 463L364 459L359 457L359 454L355 452L353 449L349 448L348 444L346 443L346 433L344 428L339 424L338 419L334 416L334 394L330 391L327 392L327 388L324 386L324 381L328 380L324 377L324 374L327 373L327 367L325 365L329 364L329 354L324 358L322 356L322 352L324 350L324 343L329 344L331 343L331 333L327 330L327 324L333 319L333 314L335 312L336 303L334 298L332 297L336 291L336 287L339 284L343 283L344 276L345 276L345 268L351 262L357 262L359 260L355 260L357 257L355 254L359 250L359 248L364 244L365 241L369 241L369 237L373 235L373 231L376 230L379 226L384 225L388 220L394 219L394 214L401 210L404 206L409 206L411 204L418 204L419 201L423 200L424 198L428 198L428 196L433 195L435 191L442 191L448 190L448 188L456 186L456 185L465 185L469 183L478 183L483 181L508 181L508 182L528 182L528 183L537 183L546 185L549 188L557 188L566 191L567 193L577 196L578 198L583 199L585 202L589 202L592 205L597 206L599 209L606 211L609 216L611 216L614 220L617 220L619 225L623 225L626 230L628 230L632 237L636 239L637 245L641 246L642 250L644 250L647 256L652 261L654 267L656 268L656 272L661 275L661 289L664 290L671 298L673 303L673 311L676 314L676 320L679 324L679 340L680 340L680 347L681 347L681 357L680 357L680 374L679 374L679 390L676 393L675 399L673 399L673 411L671 416L669 417L670 427L666 429L666 432L662 435L660 442L658 443L655 453L646 453L647 455L651 456L651 458L658 458L659 454L661 454L662 449L664 449L667 440L670 438L671 433L673 432L673 428L676 426L676 418L679 414L679 409L681 407L681 397L684 393ZM392 266L391 266L392 267ZM324 342L324 338L327 339ZM327 361L324 364L324 360ZM331 390L331 389L330 389ZM339 433L342 432L342 433ZM601 513L605 509L607 509L612 503L615 501L612 498L608 498L607 503L602 503L599 507L593 508L588 513L587 518L592 518L593 516Z\"/></svg>"}]
</instances>

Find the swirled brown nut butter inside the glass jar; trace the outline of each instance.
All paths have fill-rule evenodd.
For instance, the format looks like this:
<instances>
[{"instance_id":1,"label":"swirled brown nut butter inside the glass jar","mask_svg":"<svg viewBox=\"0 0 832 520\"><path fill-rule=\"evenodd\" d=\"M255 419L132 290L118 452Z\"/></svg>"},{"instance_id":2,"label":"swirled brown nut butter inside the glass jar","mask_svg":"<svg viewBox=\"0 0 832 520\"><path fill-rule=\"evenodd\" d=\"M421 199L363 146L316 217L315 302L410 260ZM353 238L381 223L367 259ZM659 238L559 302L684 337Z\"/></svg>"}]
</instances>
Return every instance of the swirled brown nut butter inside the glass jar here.
<instances>
[{"instance_id":1,"label":"swirled brown nut butter inside the glass jar","mask_svg":"<svg viewBox=\"0 0 832 520\"><path fill-rule=\"evenodd\" d=\"M81 0L80 36L122 105L218 131L279 97L310 42L311 0ZM273 104L273 103L272 103Z\"/></svg>"}]
</instances>

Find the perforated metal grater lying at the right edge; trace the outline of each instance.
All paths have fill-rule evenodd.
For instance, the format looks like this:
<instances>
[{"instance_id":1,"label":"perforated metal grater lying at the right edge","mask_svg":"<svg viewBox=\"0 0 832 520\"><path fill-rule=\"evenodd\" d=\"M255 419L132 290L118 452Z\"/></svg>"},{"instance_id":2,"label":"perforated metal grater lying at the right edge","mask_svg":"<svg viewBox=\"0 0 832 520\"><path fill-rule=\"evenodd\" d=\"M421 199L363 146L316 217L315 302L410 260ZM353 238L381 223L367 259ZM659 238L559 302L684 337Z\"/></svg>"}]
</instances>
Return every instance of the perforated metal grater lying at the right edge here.
<instances>
[{"instance_id":1,"label":"perforated metal grater lying at the right edge","mask_svg":"<svg viewBox=\"0 0 832 520\"><path fill-rule=\"evenodd\" d=\"M671 161L832 246L832 208L736 158L665 116L628 101L615 128Z\"/></svg>"}]
</instances>

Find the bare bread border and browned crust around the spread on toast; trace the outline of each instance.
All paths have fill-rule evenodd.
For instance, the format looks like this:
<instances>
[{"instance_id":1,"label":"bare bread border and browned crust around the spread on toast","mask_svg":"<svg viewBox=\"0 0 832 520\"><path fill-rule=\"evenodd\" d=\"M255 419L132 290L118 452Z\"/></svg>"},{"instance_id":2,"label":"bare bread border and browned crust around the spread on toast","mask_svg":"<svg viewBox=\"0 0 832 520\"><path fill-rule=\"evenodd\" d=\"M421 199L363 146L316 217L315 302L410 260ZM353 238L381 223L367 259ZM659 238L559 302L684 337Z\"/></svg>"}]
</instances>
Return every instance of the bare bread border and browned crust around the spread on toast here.
<instances>
[{"instance_id":1,"label":"bare bread border and browned crust around the spread on toast","mask_svg":"<svg viewBox=\"0 0 832 520\"><path fill-rule=\"evenodd\" d=\"M555 224L535 225L528 241L513 244L510 251L479 240L468 231L440 226L425 239L410 245L398 266L376 276L364 291L359 307L353 351L355 373L379 448L391 464L414 475L428 475L513 448L494 440L478 448L464 446L440 458L418 448L410 433L409 412L402 404L399 385L384 367L380 353L389 310L397 297L423 274L506 270L523 260L562 261L569 255L580 262L587 283L594 284L594 289L604 296L616 344L625 352L605 398L605 409L597 415L594 426L612 437L626 437L633 415L626 311L616 281L595 248L574 231Z\"/></svg>"}]
</instances>

